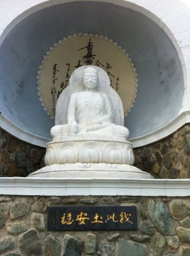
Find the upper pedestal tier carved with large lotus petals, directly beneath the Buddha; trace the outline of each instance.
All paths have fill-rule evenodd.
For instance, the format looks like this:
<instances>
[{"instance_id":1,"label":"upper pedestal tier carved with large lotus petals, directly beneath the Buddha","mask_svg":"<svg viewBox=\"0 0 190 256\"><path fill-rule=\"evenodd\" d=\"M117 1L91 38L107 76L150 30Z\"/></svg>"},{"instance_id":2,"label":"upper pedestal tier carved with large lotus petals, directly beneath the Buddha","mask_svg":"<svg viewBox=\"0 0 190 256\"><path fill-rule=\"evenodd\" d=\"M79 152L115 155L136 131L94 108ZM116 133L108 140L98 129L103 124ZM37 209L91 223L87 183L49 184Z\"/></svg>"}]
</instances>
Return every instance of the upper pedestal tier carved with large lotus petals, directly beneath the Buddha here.
<instances>
[{"instance_id":1,"label":"upper pedestal tier carved with large lotus petals, directly beneath the Buddha","mask_svg":"<svg viewBox=\"0 0 190 256\"><path fill-rule=\"evenodd\" d=\"M122 136L87 135L62 136L62 140L47 145L45 164L66 163L134 163L132 144Z\"/></svg>"}]
</instances>

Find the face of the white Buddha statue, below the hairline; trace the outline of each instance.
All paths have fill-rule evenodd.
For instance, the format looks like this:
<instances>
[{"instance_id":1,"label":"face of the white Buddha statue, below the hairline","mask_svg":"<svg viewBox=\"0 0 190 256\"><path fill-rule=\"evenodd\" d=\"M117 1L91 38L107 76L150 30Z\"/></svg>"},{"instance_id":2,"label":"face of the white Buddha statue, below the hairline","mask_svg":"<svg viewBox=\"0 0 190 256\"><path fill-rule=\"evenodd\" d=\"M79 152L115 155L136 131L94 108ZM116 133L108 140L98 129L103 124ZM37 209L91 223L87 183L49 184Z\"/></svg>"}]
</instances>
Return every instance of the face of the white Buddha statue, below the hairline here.
<instances>
[{"instance_id":1,"label":"face of the white Buddha statue, below the hairline","mask_svg":"<svg viewBox=\"0 0 190 256\"><path fill-rule=\"evenodd\" d=\"M95 91L98 84L98 74L94 72L85 72L82 76L84 88L87 91Z\"/></svg>"}]
</instances>

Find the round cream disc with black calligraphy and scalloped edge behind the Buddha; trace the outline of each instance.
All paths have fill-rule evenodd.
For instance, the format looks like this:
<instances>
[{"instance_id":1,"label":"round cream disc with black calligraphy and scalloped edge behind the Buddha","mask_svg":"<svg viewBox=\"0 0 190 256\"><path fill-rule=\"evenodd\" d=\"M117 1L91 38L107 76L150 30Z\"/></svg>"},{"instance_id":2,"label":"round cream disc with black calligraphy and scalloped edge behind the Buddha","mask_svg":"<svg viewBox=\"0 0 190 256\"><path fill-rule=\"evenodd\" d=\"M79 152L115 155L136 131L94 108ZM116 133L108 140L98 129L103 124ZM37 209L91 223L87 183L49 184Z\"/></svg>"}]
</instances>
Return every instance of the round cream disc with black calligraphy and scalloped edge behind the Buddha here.
<instances>
[{"instance_id":1,"label":"round cream disc with black calligraphy and scalloped edge behind the Buddha","mask_svg":"<svg viewBox=\"0 0 190 256\"><path fill-rule=\"evenodd\" d=\"M47 114L54 119L59 95L68 87L74 70L84 65L105 70L110 86L121 97L124 115L127 116L138 92L136 68L129 54L117 42L106 36L87 33L59 40L41 61L36 83L41 105Z\"/></svg>"}]
</instances>

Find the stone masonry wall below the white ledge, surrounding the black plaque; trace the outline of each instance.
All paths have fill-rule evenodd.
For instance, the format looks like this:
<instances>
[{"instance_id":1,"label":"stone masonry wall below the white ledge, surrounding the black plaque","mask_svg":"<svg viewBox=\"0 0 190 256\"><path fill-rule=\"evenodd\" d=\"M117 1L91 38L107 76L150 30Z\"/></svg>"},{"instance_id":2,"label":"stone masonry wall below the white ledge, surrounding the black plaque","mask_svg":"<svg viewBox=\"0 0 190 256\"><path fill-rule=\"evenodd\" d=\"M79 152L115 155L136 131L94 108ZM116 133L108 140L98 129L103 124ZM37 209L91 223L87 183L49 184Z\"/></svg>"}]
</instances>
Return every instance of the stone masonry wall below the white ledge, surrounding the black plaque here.
<instances>
[{"instance_id":1,"label":"stone masonry wall below the white ledge, surrounding the black plaque","mask_svg":"<svg viewBox=\"0 0 190 256\"><path fill-rule=\"evenodd\" d=\"M188 256L189 198L1 196L0 255ZM48 232L50 205L136 205L138 230Z\"/></svg>"}]
</instances>

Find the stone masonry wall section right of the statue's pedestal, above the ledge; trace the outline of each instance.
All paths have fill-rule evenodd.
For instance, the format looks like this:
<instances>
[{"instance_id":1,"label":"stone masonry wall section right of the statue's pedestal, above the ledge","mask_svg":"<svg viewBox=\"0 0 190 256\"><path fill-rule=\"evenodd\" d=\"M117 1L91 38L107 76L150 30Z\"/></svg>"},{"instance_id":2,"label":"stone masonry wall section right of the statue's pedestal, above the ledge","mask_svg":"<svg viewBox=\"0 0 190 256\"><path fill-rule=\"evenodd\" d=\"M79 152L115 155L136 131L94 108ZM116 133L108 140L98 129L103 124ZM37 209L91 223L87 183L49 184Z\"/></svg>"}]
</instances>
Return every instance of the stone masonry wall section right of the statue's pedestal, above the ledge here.
<instances>
[{"instance_id":1,"label":"stone masonry wall section right of the statue's pedestal, above the ledge","mask_svg":"<svg viewBox=\"0 0 190 256\"><path fill-rule=\"evenodd\" d=\"M164 140L133 151L134 165L155 178L190 178L190 124Z\"/></svg>"}]
</instances>

